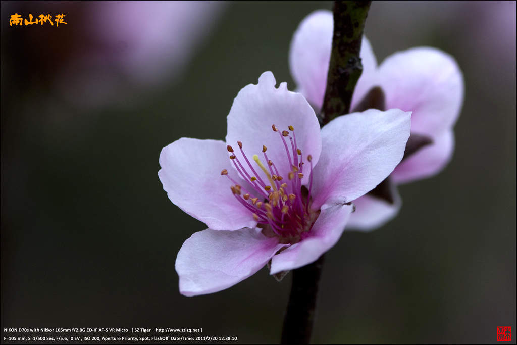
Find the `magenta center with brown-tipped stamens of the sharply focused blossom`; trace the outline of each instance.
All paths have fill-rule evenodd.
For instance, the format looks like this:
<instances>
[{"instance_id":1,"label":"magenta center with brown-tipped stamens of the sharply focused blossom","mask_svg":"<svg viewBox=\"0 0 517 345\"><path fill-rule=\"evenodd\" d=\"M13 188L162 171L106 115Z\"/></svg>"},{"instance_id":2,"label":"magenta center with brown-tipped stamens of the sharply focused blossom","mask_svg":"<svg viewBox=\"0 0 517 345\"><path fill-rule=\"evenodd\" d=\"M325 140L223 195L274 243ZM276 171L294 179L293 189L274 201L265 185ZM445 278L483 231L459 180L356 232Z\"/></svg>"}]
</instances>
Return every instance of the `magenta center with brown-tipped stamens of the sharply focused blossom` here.
<instances>
[{"instance_id":1,"label":"magenta center with brown-tipped stamens of the sharply focused blossom","mask_svg":"<svg viewBox=\"0 0 517 345\"><path fill-rule=\"evenodd\" d=\"M250 159L242 149L242 143L237 142L244 162L241 162L234 154L232 146L228 145L230 160L240 176L248 183L247 186L238 184L226 169L221 175L226 175L234 183L231 186L232 193L239 202L253 213L253 218L262 228L262 233L268 237L279 237L280 243L295 244L300 242L311 228L319 215L319 211L310 210L310 196L312 187L312 156L307 156L310 163L309 189L302 186L303 178L303 156L296 143L294 127L288 126L291 131L279 131L272 125L273 131L280 134L279 144L285 149L285 161L279 164L288 164L287 176L281 176L277 164L268 159L265 145L262 146L262 153L265 164L258 155L253 155L252 160L261 171L253 167ZM288 144L288 142L289 144ZM280 166L278 166L280 167Z\"/></svg>"}]
</instances>

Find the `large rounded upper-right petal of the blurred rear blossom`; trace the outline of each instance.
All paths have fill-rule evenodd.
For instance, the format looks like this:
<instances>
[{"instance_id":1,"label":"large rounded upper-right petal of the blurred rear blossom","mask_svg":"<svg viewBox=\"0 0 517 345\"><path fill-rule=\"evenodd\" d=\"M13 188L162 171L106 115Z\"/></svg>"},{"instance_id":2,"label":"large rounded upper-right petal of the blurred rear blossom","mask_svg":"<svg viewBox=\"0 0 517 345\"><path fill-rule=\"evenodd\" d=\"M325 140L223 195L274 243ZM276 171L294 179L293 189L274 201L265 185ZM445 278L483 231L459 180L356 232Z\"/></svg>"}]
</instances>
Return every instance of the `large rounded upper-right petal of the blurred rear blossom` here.
<instances>
[{"instance_id":1,"label":"large rounded upper-right petal of the blurred rear blossom","mask_svg":"<svg viewBox=\"0 0 517 345\"><path fill-rule=\"evenodd\" d=\"M430 137L451 129L464 95L463 74L452 56L420 47L388 56L379 66L386 108L412 111L411 130Z\"/></svg>"}]
</instances>

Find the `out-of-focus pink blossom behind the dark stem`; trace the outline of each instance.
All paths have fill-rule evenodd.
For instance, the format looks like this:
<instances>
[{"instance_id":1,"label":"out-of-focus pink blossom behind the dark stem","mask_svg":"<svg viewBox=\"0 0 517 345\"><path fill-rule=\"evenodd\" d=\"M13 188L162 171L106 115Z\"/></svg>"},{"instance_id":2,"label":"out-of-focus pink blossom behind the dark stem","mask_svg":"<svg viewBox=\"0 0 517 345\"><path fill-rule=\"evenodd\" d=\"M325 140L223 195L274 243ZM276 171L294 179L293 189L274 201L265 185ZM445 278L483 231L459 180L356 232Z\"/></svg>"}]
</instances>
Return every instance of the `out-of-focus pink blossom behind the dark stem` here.
<instances>
[{"instance_id":1,"label":"out-of-focus pink blossom behind the dark stem","mask_svg":"<svg viewBox=\"0 0 517 345\"><path fill-rule=\"evenodd\" d=\"M330 11L315 11L304 19L291 42L291 73L299 92L321 109L327 83L332 44L333 17ZM363 72L357 83L352 107L374 86L385 95L384 108L412 111L409 150L384 187L393 202L369 193L354 204L357 209L349 227L369 230L382 226L397 215L401 200L396 185L430 177L449 162L454 149L452 130L463 103L463 76L454 58L438 49L419 47L388 56L377 66L370 42L362 41Z\"/></svg>"}]
</instances>

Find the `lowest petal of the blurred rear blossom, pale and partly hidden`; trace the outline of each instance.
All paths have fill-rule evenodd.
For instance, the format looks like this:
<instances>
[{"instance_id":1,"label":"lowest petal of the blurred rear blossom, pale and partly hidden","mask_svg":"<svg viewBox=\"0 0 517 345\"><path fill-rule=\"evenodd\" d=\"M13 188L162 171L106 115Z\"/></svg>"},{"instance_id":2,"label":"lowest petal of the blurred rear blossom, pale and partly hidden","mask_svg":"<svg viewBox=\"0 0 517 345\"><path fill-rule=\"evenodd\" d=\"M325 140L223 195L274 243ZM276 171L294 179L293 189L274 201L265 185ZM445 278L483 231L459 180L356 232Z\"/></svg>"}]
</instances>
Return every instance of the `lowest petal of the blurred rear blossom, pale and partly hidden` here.
<instances>
[{"instance_id":1,"label":"lowest petal of the blurred rear blossom, pale and partly hidden","mask_svg":"<svg viewBox=\"0 0 517 345\"><path fill-rule=\"evenodd\" d=\"M399 213L402 200L397 187L392 188L393 204L365 194L354 200L356 211L350 217L345 230L369 231L382 227Z\"/></svg>"}]
</instances>

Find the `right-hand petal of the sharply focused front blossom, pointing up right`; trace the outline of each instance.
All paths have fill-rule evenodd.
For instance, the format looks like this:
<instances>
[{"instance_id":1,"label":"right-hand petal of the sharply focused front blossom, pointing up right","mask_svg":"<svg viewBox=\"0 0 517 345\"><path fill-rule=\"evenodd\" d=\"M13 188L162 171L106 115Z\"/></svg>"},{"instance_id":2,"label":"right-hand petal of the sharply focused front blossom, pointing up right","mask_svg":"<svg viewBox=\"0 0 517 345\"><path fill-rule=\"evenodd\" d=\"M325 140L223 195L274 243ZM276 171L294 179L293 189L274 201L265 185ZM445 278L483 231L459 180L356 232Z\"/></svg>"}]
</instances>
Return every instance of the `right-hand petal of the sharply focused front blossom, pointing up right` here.
<instances>
[{"instance_id":1,"label":"right-hand petal of the sharply focused front blossom, pointing up right","mask_svg":"<svg viewBox=\"0 0 517 345\"><path fill-rule=\"evenodd\" d=\"M311 207L353 201L381 183L402 159L410 115L399 109L369 109L339 116L324 126Z\"/></svg>"}]
</instances>

